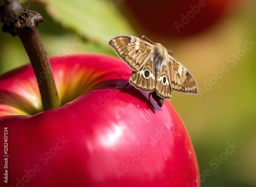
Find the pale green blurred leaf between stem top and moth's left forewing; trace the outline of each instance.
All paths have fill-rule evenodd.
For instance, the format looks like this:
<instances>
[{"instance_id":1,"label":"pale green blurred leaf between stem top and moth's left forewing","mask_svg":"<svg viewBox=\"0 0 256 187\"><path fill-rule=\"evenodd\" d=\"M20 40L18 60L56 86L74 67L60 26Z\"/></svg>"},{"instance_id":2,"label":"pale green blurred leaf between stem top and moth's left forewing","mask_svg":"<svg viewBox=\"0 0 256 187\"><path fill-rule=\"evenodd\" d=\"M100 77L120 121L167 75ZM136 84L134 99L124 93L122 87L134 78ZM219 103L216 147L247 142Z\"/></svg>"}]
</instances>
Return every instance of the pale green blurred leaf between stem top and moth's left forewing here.
<instances>
[{"instance_id":1,"label":"pale green blurred leaf between stem top and moth's left forewing","mask_svg":"<svg viewBox=\"0 0 256 187\"><path fill-rule=\"evenodd\" d=\"M100 45L117 34L135 35L131 25L118 11L115 0L44 0L53 19L75 30L80 36Z\"/></svg>"}]
</instances>

